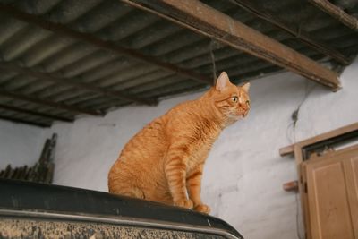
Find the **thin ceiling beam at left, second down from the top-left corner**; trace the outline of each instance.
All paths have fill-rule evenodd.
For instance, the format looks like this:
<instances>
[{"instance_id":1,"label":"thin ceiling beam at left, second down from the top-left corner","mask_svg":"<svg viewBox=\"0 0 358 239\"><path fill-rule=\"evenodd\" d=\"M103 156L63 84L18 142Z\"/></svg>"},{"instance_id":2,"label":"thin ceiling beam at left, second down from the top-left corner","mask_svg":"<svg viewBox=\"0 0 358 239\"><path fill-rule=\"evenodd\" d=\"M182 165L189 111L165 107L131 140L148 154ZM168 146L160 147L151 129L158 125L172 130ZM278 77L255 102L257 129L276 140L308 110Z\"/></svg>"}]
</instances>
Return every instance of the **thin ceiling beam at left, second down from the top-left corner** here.
<instances>
[{"instance_id":1,"label":"thin ceiling beam at left, second down from the top-left corner","mask_svg":"<svg viewBox=\"0 0 358 239\"><path fill-rule=\"evenodd\" d=\"M91 83L84 83L81 81L78 81L77 79L67 79L67 78L62 78L62 77L58 77L57 75L55 75L54 73L39 73L39 72L35 72L32 71L30 68L25 68L25 67L21 67L18 66L16 64L11 64L11 63L5 63L5 62L0 62L0 68L6 69L6 70L10 70L16 73L21 73L24 75L28 75L28 76L32 76L35 78L38 78L40 80L44 80L44 81L53 81L57 84L62 84L62 85L69 85L75 88L78 88L80 90L88 90L91 92L95 92L98 93L100 95L103 95L105 97L108 98L115 98L115 99L121 99L121 100L130 100L133 102L137 102L140 104L144 104L144 105L149 105L149 106L153 106L153 105L157 105L158 101L156 99L152 99L152 98L136 98L133 96L129 96L124 94L123 92L118 92L118 91L113 91L113 90L107 90L98 86L95 86Z\"/></svg>"}]
</instances>

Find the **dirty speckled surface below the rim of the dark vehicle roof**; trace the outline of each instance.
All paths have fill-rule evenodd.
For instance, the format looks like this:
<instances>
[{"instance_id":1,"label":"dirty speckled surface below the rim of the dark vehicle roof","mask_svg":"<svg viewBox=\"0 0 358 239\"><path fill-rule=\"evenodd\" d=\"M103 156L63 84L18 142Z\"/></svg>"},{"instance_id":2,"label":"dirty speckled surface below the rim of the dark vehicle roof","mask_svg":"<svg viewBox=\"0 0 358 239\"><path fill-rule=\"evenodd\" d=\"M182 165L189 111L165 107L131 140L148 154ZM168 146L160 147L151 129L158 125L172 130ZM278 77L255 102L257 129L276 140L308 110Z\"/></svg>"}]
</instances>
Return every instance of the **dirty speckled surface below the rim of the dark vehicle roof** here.
<instances>
[{"instance_id":1,"label":"dirty speckled surface below the rim of the dark vehicle roof","mask_svg":"<svg viewBox=\"0 0 358 239\"><path fill-rule=\"evenodd\" d=\"M39 218L1 218L0 238L126 238L224 239L221 235L98 222L55 221Z\"/></svg>"}]
</instances>

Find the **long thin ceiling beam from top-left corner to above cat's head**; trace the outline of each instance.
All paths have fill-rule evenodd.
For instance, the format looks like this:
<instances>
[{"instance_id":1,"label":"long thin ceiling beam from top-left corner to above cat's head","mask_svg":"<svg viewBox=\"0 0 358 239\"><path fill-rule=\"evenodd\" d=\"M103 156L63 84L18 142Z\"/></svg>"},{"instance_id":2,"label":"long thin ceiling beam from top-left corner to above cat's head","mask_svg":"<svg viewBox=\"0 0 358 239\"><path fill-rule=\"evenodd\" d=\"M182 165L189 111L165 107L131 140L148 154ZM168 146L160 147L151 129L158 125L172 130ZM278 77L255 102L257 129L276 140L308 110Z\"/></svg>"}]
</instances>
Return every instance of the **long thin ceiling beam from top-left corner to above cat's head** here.
<instances>
[{"instance_id":1,"label":"long thin ceiling beam from top-left corner to above cat's head","mask_svg":"<svg viewBox=\"0 0 358 239\"><path fill-rule=\"evenodd\" d=\"M59 34L59 35L63 35L66 37L71 37L71 38L75 38L75 39L78 39L81 41L85 41L87 43L92 44L93 46L109 50L109 51L114 52L118 55L127 56L127 57L129 57L135 61L141 62L141 63L155 65L161 69L164 69L164 70L172 72L172 73L177 73L179 75L182 75L183 77L186 77L186 78L189 78L189 79L192 79L195 81L205 82L210 85L213 84L213 80L210 77L208 77L207 75L203 75L201 73L195 73L192 70L181 68L175 64L169 64L166 62L162 62L154 56L143 55L143 54L141 54L141 52L133 50L131 48L118 46L115 44L115 42L96 38L96 37L94 37L93 34L72 30L68 27L65 27L63 24L58 24L58 23L51 22L51 21L45 21L36 15L21 12L20 10L18 10L17 8L15 8L11 5L0 4L0 13L4 13L4 14L11 16L13 18L16 18L18 20L25 21L30 24L34 24L40 28L50 30L50 31L52 31L56 34Z\"/></svg>"}]
</instances>

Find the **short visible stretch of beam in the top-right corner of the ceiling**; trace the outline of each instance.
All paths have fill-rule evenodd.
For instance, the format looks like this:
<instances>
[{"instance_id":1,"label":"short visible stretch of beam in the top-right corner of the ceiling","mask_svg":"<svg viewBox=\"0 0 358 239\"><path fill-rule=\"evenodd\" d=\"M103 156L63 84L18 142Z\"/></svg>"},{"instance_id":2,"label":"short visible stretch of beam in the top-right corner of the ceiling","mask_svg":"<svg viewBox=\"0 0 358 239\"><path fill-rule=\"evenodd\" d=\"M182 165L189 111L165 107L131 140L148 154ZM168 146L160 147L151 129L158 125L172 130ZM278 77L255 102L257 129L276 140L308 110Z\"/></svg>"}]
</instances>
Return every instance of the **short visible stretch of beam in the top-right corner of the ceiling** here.
<instances>
[{"instance_id":1,"label":"short visible stretch of beam in the top-right corner of the ceiling","mask_svg":"<svg viewBox=\"0 0 358 239\"><path fill-rule=\"evenodd\" d=\"M314 4L320 10L324 11L325 13L328 13L332 17L336 18L337 21L342 22L350 29L353 29L354 31L358 30L358 20L351 16L348 13L345 13L342 9L337 7L337 5L329 3L327 0L309 0L311 4Z\"/></svg>"}]
</instances>

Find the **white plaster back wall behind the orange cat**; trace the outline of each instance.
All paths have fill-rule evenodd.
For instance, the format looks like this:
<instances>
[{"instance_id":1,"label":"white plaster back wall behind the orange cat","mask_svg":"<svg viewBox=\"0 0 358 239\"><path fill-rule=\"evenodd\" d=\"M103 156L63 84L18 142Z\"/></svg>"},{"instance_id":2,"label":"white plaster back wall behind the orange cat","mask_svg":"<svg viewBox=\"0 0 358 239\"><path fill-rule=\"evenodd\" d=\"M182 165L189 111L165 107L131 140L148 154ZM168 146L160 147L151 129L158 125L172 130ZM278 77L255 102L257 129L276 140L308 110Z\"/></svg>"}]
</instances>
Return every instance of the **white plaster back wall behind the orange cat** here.
<instances>
[{"instance_id":1,"label":"white plaster back wall behind the orange cat","mask_svg":"<svg viewBox=\"0 0 358 239\"><path fill-rule=\"evenodd\" d=\"M358 61L345 69L344 88L337 93L294 73L252 81L250 115L221 134L205 166L202 197L212 215L246 238L297 238L295 194L282 190L283 183L296 178L294 160L280 158L278 149L294 138L300 141L357 122L356 75ZM46 133L59 136L55 184L107 191L107 172L126 141L175 104L200 94L167 99L158 107L124 107L103 118L55 124ZM291 115L300 104L293 131Z\"/></svg>"}]
</instances>

